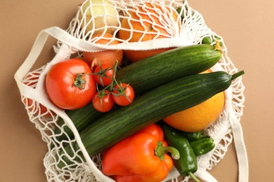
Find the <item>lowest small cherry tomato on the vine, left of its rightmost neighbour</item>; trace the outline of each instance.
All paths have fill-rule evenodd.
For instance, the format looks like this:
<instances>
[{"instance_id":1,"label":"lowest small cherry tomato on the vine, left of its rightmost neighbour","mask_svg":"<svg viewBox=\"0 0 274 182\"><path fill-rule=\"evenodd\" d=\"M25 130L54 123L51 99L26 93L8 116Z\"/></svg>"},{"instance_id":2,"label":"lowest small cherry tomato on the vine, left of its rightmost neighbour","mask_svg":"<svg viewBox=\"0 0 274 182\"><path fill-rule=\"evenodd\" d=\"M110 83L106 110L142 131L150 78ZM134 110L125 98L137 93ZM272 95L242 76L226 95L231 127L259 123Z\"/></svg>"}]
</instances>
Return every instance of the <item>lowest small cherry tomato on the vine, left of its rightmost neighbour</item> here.
<instances>
[{"instance_id":1,"label":"lowest small cherry tomato on the vine, left of its rightmost neighbour","mask_svg":"<svg viewBox=\"0 0 274 182\"><path fill-rule=\"evenodd\" d=\"M103 90L94 94L92 104L97 111L105 113L110 111L115 103L112 99L111 92Z\"/></svg>"}]
</instances>

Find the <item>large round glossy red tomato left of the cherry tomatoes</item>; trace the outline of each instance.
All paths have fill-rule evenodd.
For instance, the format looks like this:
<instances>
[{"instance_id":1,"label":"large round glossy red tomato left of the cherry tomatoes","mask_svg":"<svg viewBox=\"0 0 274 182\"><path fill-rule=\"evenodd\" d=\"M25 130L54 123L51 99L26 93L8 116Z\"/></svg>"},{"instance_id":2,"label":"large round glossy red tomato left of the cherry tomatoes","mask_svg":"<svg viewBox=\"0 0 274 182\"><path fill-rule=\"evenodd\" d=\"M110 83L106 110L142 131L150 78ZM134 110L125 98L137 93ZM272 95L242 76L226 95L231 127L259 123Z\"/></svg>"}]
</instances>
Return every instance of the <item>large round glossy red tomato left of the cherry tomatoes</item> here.
<instances>
[{"instance_id":1,"label":"large round glossy red tomato left of the cherry tomatoes","mask_svg":"<svg viewBox=\"0 0 274 182\"><path fill-rule=\"evenodd\" d=\"M84 88L74 86L77 74L86 81ZM96 92L96 82L89 64L74 58L59 62L46 75L46 90L51 101L61 109L79 109L89 102Z\"/></svg>"}]
</instances>

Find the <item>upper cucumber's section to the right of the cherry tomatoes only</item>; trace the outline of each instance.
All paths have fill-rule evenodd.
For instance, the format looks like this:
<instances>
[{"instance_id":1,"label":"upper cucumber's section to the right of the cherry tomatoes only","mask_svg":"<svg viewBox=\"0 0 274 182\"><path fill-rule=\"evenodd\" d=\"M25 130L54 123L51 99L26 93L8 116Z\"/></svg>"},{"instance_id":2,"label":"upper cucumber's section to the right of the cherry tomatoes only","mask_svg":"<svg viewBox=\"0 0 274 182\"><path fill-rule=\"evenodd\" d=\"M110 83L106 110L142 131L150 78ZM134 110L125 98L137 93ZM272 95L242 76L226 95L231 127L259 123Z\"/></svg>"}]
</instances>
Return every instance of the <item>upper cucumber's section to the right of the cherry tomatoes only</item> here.
<instances>
[{"instance_id":1,"label":"upper cucumber's section to the right of the cherry tomatoes only","mask_svg":"<svg viewBox=\"0 0 274 182\"><path fill-rule=\"evenodd\" d=\"M210 69L221 55L214 45L175 48L129 64L117 71L116 79L130 83L136 94L142 94L171 80Z\"/></svg>"}]
</instances>

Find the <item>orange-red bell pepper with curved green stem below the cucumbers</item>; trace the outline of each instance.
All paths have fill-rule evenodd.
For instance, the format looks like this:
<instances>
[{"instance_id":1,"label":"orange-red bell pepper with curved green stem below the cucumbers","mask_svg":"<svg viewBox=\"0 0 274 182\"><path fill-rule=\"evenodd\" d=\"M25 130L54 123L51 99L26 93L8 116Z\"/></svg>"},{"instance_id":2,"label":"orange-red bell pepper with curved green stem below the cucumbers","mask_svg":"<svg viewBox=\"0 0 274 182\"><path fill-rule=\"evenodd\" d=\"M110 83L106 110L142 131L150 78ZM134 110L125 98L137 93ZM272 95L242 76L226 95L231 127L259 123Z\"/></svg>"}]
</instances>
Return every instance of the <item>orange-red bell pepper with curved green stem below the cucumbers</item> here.
<instances>
[{"instance_id":1,"label":"orange-red bell pepper with curved green stem below the cucumbers","mask_svg":"<svg viewBox=\"0 0 274 182\"><path fill-rule=\"evenodd\" d=\"M118 182L162 181L178 159L176 148L167 146L164 132L156 124L136 132L103 154L102 171Z\"/></svg>"}]
</instances>

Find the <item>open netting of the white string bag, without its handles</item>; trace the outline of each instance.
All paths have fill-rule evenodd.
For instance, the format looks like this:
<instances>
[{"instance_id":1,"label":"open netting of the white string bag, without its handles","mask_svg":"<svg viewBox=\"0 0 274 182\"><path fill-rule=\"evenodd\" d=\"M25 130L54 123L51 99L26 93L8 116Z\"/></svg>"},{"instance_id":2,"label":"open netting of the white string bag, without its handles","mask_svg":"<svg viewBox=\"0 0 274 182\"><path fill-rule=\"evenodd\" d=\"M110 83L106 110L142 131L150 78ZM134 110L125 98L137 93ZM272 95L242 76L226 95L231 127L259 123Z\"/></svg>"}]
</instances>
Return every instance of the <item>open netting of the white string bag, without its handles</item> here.
<instances>
[{"instance_id":1,"label":"open netting of the white string bag, without its handles","mask_svg":"<svg viewBox=\"0 0 274 182\"><path fill-rule=\"evenodd\" d=\"M79 7L77 15L72 19L70 26L66 30L70 36L81 41L72 41L73 45L66 45L61 38L58 39L56 46L54 46L54 50L57 53L56 57L50 62L50 64L41 66L41 68L27 73L27 76L22 80L22 83L33 90L45 92L44 78L48 69L50 69L50 67L56 62L71 57L74 53L81 55L81 51L83 50L93 52L105 49L149 50L155 48L169 48L202 43L202 39L205 36L211 38L212 44L215 43L214 38L216 38L216 36L223 42L221 36L218 36L214 31L211 31L211 29L207 27L202 15L188 6L187 1L105 0L103 1L103 4L98 3L98 1L93 2L92 6L103 6L106 11L110 11L110 9L114 7L116 11L114 13L112 12L112 15L91 17L96 18L96 20L109 20L115 23L112 23L110 26L107 26L107 23L105 23L103 26L96 27L98 23L95 19L86 18L90 17L89 15L86 16L86 13L91 12L91 1L84 1L84 3ZM152 5L148 6L146 4L148 2ZM89 6L87 6L87 4L89 4ZM181 7L181 11L177 14L175 10L178 7ZM155 17L148 18L145 22L139 22L140 25L149 23L152 25L153 29L155 29L155 31L151 33L154 37L151 41L129 42L129 39L124 40L119 38L119 30L122 29L121 20L123 18L126 18L126 20L129 21L132 20L130 16L132 12L136 12L140 17L143 16L143 13L151 11L155 12ZM177 15L175 19L173 18L174 12ZM183 18L181 19L181 17ZM158 25L156 25L156 20L157 22L160 22ZM138 22L140 20L134 21ZM129 37L131 37L134 32L137 32L132 29L132 26L133 25L130 25L131 29L125 30L129 31ZM98 38L102 37L99 36L98 38L92 38L92 36L98 32L111 32L113 34L111 40L118 40L121 43L115 46L98 45L94 43L94 41L97 41ZM148 31L143 27L143 31L139 30L138 33L141 34L141 38L143 38L148 34ZM92 48L85 46L83 42L88 42L88 45L92 45ZM65 53L62 54L62 52ZM231 74L237 72L237 68L228 57L228 50L225 44L223 44L223 56L218 64L213 67L213 70L224 70ZM233 141L233 134L230 127L231 111L233 111L236 119L240 122L244 107L243 91L244 85L242 84L241 78L234 80L231 87L226 90L226 106L223 109L223 112L216 122L204 131L214 138L216 148L214 148L214 151L207 153L207 155L198 158L199 169L211 169L223 158L224 155L226 155L227 148ZM39 99L39 97L29 99L26 95L22 94L22 102L25 104L30 121L34 123L37 129L41 132L41 137L48 146L48 152L44 158L44 166L46 167L45 173L48 181L112 181L100 172L102 162L101 154L99 153L93 158L89 158L85 148L81 144L79 133L74 127L72 120L66 117L65 111L56 109L54 106L49 106L47 97L44 99ZM61 123L61 118L62 120L65 120L65 122ZM65 127L70 127L74 136L70 137L65 132ZM60 130L59 133L54 132L56 128ZM57 138L63 134L67 136L67 139L58 141ZM80 146L76 151L72 147L74 144ZM64 150L65 146L71 146L73 151L72 155L66 153ZM72 164L67 164L64 168L60 168L58 167L58 164L62 160L61 157L63 155L70 158ZM81 160L75 160L75 158ZM166 181L188 181L188 178L179 180L178 176L178 172L174 169L170 172Z\"/></svg>"}]
</instances>

